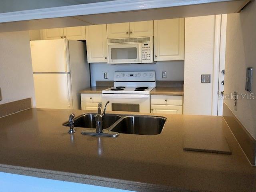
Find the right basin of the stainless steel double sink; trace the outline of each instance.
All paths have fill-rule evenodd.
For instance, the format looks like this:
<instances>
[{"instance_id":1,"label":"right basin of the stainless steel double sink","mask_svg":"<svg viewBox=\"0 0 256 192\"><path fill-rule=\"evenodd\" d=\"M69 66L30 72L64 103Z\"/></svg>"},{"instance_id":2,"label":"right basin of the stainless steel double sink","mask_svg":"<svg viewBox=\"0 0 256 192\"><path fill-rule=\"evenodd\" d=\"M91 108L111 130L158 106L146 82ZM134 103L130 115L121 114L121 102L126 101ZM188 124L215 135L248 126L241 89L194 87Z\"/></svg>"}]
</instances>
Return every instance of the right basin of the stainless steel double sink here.
<instances>
[{"instance_id":1,"label":"right basin of the stainless steel double sink","mask_svg":"<svg viewBox=\"0 0 256 192\"><path fill-rule=\"evenodd\" d=\"M157 116L126 116L118 124L110 128L110 131L138 134L138 135L157 135L164 128L166 118Z\"/></svg>"}]
</instances>

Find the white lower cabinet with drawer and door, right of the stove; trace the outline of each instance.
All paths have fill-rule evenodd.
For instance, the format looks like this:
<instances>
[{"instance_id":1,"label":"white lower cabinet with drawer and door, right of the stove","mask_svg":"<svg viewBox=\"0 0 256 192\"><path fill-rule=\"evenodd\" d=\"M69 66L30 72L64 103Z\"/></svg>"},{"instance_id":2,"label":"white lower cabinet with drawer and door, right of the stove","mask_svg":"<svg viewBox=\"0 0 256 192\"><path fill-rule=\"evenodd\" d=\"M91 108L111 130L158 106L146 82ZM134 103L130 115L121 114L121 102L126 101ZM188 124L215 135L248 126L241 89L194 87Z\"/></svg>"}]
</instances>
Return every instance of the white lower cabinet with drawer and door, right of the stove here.
<instances>
[{"instance_id":1,"label":"white lower cabinet with drawer and door, right of the stove","mask_svg":"<svg viewBox=\"0 0 256 192\"><path fill-rule=\"evenodd\" d=\"M151 95L151 113L182 114L183 96Z\"/></svg>"}]
</instances>

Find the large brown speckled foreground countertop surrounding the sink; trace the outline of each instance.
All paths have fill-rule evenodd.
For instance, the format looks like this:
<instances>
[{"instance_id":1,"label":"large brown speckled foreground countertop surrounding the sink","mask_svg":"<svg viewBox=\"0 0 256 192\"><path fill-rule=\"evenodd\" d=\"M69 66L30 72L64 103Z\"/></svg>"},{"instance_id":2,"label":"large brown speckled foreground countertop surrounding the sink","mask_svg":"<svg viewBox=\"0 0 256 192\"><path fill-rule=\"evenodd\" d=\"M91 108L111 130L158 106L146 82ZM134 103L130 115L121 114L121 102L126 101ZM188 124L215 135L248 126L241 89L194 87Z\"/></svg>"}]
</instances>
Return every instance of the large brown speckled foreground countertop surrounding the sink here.
<instances>
[{"instance_id":1,"label":"large brown speckled foreground countertop surrounding the sink","mask_svg":"<svg viewBox=\"0 0 256 192\"><path fill-rule=\"evenodd\" d=\"M163 114L161 134L86 136L62 126L86 110L28 109L0 118L0 171L134 191L256 189L252 167L220 116ZM114 113L114 112L113 112ZM184 135L223 134L231 155L183 150Z\"/></svg>"}]
</instances>

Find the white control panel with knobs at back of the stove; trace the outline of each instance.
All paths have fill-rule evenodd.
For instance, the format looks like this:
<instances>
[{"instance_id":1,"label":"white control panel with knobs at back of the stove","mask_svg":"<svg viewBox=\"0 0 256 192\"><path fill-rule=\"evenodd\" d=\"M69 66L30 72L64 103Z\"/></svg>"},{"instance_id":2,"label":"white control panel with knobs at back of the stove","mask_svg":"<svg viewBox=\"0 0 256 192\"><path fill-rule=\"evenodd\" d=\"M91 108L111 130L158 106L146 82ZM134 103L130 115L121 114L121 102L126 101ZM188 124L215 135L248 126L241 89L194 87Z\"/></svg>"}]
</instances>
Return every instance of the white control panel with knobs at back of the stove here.
<instances>
[{"instance_id":1,"label":"white control panel with knobs at back of the stove","mask_svg":"<svg viewBox=\"0 0 256 192\"><path fill-rule=\"evenodd\" d=\"M155 82L156 73L154 71L116 71L114 81Z\"/></svg>"}]
</instances>

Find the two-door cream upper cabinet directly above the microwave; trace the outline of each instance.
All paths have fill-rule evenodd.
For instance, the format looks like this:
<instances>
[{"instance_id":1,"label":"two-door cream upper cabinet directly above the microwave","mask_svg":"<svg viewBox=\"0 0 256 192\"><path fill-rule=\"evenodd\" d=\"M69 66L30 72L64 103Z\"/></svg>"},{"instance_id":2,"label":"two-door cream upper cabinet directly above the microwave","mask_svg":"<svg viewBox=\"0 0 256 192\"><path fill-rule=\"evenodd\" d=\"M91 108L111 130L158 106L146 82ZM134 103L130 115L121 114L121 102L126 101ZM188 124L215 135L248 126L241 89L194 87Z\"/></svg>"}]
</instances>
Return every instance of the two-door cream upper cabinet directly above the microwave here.
<instances>
[{"instance_id":1,"label":"two-door cream upper cabinet directly above the microwave","mask_svg":"<svg viewBox=\"0 0 256 192\"><path fill-rule=\"evenodd\" d=\"M107 24L108 39L153 36L153 21Z\"/></svg>"}]
</instances>

